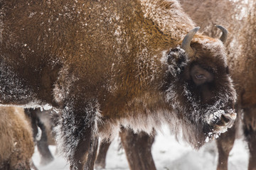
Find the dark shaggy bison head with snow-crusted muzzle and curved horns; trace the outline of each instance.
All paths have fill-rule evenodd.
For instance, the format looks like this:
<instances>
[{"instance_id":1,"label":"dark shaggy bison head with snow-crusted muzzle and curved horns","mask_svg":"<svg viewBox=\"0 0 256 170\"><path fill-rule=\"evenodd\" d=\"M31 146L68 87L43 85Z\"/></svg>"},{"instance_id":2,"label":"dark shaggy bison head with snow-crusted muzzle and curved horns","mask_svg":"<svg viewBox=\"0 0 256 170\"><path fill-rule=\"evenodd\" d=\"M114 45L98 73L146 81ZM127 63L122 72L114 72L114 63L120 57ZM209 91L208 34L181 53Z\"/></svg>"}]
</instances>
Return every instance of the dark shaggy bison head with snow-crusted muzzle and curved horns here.
<instances>
[{"instance_id":1,"label":"dark shaggy bison head with snow-crusted muzzle and curved horns","mask_svg":"<svg viewBox=\"0 0 256 170\"><path fill-rule=\"evenodd\" d=\"M225 29L221 27L222 29ZM178 120L182 120L183 137L200 147L230 128L236 118L235 89L228 74L223 41L195 35L194 28L166 55L168 81L166 100Z\"/></svg>"}]
</instances>

